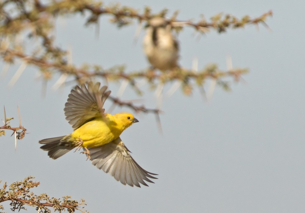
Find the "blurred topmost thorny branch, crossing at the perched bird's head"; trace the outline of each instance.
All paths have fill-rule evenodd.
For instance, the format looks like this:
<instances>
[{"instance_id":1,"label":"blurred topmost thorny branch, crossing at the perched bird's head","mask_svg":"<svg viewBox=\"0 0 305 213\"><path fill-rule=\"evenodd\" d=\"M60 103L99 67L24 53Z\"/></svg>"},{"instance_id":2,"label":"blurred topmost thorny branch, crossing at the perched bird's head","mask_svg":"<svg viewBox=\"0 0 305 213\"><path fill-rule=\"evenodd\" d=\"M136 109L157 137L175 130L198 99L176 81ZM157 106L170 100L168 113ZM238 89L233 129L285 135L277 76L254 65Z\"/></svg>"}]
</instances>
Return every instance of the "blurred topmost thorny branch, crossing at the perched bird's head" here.
<instances>
[{"instance_id":1,"label":"blurred topmost thorny branch, crossing at the perched bird's head","mask_svg":"<svg viewBox=\"0 0 305 213\"><path fill-rule=\"evenodd\" d=\"M133 19L137 19L139 22L147 21L152 17L161 16L165 17L167 15L168 10L163 9L159 13L152 13L151 9L146 6L144 8L143 13L139 13L138 9L134 9L128 6L121 6L120 4L111 4L104 5L102 2L96 2L93 0L62 0L62 1L52 1L48 4L43 4L40 0L30 1L5 1L0 4L2 8L6 6L6 4L15 2L16 8L20 11L20 16L16 18L12 18L9 16L8 12L2 12L2 16L5 17L5 23L10 24L14 21L14 19L19 21L37 21L37 16L39 14L49 14L53 17L56 15L66 15L66 14L76 14L89 12L86 24L89 23L98 23L99 16L101 15L112 15L113 19L111 21L116 23L118 26L125 26L131 23ZM27 7L25 6L27 4ZM26 9L27 8L27 9ZM30 9L28 9L30 8ZM170 23L175 26L175 22L180 23L179 26L191 26L194 27L195 30L202 31L202 29L215 29L218 32L225 32L228 28L239 28L244 27L246 24L259 24L262 23L265 26L265 23L268 16L272 16L272 11L268 11L257 18L251 18L246 15L241 19L236 18L230 14L223 15L223 13L216 14L211 17L211 21L206 21L203 17L197 23L189 20L181 21L177 20L178 11L174 12L172 17L169 19ZM22 29L20 29L22 30ZM206 31L206 30L204 30Z\"/></svg>"}]
</instances>

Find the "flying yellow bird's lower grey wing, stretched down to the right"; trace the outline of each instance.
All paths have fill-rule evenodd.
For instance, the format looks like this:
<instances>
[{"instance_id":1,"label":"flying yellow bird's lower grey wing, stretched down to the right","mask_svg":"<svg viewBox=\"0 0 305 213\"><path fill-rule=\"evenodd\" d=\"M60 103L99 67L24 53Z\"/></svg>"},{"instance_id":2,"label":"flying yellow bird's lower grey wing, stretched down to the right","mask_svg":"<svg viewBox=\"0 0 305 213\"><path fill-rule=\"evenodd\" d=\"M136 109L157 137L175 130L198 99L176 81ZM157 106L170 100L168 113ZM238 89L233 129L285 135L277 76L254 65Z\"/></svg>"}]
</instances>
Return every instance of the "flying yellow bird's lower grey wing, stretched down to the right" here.
<instances>
[{"instance_id":1,"label":"flying yellow bird's lower grey wing, stretched down to the right","mask_svg":"<svg viewBox=\"0 0 305 213\"><path fill-rule=\"evenodd\" d=\"M154 183L149 178L158 179L152 176L157 174L146 171L135 162L120 137L105 145L88 149L92 164L124 185L127 183L132 187L141 187L139 183L142 183L148 186L144 180Z\"/></svg>"}]
</instances>

